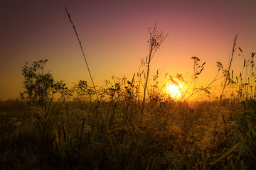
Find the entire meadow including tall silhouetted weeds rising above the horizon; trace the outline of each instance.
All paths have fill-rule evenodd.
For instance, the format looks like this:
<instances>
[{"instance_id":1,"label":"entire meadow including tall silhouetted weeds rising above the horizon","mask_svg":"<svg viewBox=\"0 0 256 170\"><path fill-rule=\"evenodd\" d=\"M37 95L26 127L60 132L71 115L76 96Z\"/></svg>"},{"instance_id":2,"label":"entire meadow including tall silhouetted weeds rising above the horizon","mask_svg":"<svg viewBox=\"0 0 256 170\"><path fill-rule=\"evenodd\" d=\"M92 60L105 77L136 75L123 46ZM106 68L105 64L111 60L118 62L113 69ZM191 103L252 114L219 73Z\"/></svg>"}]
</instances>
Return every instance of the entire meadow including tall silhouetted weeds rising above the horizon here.
<instances>
[{"instance_id":1,"label":"entire meadow including tall silhouetted weeds rising above the horizon","mask_svg":"<svg viewBox=\"0 0 256 170\"><path fill-rule=\"evenodd\" d=\"M102 87L91 77L68 88L44 70L48 60L26 63L21 97L0 101L0 169L255 169L255 53L235 77L235 37L227 69L217 62L205 87L205 63L191 57L192 79L166 74L173 96L149 74L166 35L156 25L149 35L139 72Z\"/></svg>"}]
</instances>

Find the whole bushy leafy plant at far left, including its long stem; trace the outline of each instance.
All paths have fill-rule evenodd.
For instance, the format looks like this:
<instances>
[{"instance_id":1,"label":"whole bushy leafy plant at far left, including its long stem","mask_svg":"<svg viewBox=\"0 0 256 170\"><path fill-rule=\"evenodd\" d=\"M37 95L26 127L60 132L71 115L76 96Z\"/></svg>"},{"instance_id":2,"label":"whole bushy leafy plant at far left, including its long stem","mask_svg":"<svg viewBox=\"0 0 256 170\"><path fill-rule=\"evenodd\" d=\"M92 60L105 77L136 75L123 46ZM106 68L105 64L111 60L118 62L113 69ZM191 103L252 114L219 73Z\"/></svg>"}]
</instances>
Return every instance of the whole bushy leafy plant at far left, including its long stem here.
<instances>
[{"instance_id":1,"label":"whole bushy leafy plant at far left, including its long stem","mask_svg":"<svg viewBox=\"0 0 256 170\"><path fill-rule=\"evenodd\" d=\"M53 96L57 92L65 94L65 91L68 90L63 81L54 81L52 74L49 72L44 73L46 62L48 60L39 60L38 62L33 62L31 66L28 66L28 63L24 65L22 74L25 79L23 81L25 91L21 93L21 99L27 101L29 105L41 108L38 120L41 127L40 164L42 168L46 160L46 149L51 147L52 144L49 142L53 140L53 125L49 122L53 113L50 110L53 106Z\"/></svg>"}]
</instances>

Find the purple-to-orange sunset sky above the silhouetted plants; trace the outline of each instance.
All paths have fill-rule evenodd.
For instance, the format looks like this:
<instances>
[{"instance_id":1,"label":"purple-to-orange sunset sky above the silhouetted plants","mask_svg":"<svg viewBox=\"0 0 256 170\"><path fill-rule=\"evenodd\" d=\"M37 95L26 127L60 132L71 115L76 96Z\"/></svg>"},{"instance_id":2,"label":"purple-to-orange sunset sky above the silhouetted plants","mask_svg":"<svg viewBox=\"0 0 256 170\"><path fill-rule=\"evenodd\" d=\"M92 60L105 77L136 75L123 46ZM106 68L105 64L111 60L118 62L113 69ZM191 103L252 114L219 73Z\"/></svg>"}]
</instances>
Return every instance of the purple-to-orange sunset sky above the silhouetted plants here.
<instances>
[{"instance_id":1,"label":"purple-to-orange sunset sky above the silhouetted plants","mask_svg":"<svg viewBox=\"0 0 256 170\"><path fill-rule=\"evenodd\" d=\"M169 33L151 62L162 74L193 74L196 56L206 62L201 82L217 72L216 62L228 67L238 34L245 57L256 51L255 0L1 0L0 98L15 98L23 91L22 67L47 59L55 80L68 86L90 81L82 52L65 8L78 30L85 57L97 86L106 79L139 71L149 52L148 28ZM236 50L233 69L239 74L243 58Z\"/></svg>"}]
</instances>

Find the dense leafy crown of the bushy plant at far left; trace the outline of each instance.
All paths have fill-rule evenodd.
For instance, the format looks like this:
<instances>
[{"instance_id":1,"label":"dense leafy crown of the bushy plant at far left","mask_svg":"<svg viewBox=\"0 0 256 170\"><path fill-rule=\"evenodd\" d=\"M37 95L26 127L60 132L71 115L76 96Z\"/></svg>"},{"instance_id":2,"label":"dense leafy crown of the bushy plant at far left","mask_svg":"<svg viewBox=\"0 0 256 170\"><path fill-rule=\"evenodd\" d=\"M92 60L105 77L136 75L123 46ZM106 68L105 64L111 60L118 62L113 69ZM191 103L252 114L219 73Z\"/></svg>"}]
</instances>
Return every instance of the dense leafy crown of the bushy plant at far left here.
<instances>
[{"instance_id":1,"label":"dense leafy crown of the bushy plant at far left","mask_svg":"<svg viewBox=\"0 0 256 170\"><path fill-rule=\"evenodd\" d=\"M39 106L47 112L53 101L53 96L58 91L66 91L63 81L54 81L50 72L44 73L43 67L48 60L28 63L24 65L22 74L24 77L24 89L20 95L21 99L27 101L31 106ZM41 72L40 72L41 71Z\"/></svg>"}]
</instances>

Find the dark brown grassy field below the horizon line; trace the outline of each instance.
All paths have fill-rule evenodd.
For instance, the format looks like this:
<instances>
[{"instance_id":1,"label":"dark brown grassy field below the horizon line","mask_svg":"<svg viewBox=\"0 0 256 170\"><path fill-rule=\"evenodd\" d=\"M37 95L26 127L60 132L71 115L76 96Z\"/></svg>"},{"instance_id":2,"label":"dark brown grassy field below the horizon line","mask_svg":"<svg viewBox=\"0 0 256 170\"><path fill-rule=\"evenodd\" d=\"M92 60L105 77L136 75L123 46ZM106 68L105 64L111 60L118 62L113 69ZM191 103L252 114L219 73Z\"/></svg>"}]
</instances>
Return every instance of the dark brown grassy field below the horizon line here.
<instances>
[{"instance_id":1,"label":"dark brown grassy field below the horizon line","mask_svg":"<svg viewBox=\"0 0 256 170\"><path fill-rule=\"evenodd\" d=\"M40 110L24 104L11 111L10 102L1 101L1 169L255 167L255 101L148 101L142 119L132 99L87 101L83 110L72 101L68 113L53 116L45 138Z\"/></svg>"}]
</instances>

